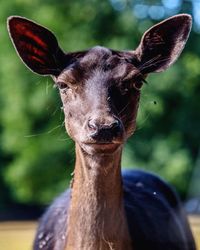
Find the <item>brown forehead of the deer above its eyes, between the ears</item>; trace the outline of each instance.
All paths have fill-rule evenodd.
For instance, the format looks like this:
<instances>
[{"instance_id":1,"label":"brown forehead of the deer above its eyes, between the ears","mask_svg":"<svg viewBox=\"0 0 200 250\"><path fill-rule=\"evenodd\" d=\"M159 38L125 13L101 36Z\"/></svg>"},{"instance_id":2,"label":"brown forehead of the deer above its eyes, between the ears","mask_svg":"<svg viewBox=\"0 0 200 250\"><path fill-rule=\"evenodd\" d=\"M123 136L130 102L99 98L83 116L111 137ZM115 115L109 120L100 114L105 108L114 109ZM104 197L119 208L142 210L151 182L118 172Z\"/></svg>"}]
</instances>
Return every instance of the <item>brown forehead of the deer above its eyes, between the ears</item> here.
<instances>
[{"instance_id":1,"label":"brown forehead of the deer above its eyes, between the ears","mask_svg":"<svg viewBox=\"0 0 200 250\"><path fill-rule=\"evenodd\" d=\"M58 81L71 84L87 84L88 87L119 84L127 76L139 74L133 64L133 53L117 52L104 47L94 47L64 69Z\"/></svg>"}]
</instances>

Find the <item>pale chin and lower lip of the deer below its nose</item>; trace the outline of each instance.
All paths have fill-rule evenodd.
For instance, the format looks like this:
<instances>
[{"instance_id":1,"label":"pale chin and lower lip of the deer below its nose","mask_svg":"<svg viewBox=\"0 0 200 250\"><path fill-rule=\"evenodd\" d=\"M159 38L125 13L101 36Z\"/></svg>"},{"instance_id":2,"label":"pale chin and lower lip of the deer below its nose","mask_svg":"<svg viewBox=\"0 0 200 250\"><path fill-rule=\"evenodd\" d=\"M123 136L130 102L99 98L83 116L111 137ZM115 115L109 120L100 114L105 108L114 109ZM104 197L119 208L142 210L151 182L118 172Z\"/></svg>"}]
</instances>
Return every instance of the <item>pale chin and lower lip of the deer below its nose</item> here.
<instances>
[{"instance_id":1,"label":"pale chin and lower lip of the deer below its nose","mask_svg":"<svg viewBox=\"0 0 200 250\"><path fill-rule=\"evenodd\" d=\"M119 148L123 146L123 143L119 142L89 142L81 143L80 147L83 151L89 155L104 154L110 155L115 153Z\"/></svg>"}]
</instances>

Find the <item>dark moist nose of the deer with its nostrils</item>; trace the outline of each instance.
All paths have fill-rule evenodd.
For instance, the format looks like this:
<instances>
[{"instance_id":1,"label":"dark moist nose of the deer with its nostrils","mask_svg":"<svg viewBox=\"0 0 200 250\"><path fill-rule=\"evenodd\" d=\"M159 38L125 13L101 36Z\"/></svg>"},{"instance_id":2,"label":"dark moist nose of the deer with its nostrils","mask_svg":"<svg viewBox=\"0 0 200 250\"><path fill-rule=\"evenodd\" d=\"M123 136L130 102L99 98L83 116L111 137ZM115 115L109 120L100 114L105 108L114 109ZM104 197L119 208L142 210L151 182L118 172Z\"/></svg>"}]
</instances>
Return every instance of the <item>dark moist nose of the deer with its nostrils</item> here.
<instances>
[{"instance_id":1,"label":"dark moist nose of the deer with its nostrils","mask_svg":"<svg viewBox=\"0 0 200 250\"><path fill-rule=\"evenodd\" d=\"M98 119L90 119L88 127L90 137L98 142L111 142L122 134L122 125L117 118L104 122L100 122Z\"/></svg>"}]
</instances>

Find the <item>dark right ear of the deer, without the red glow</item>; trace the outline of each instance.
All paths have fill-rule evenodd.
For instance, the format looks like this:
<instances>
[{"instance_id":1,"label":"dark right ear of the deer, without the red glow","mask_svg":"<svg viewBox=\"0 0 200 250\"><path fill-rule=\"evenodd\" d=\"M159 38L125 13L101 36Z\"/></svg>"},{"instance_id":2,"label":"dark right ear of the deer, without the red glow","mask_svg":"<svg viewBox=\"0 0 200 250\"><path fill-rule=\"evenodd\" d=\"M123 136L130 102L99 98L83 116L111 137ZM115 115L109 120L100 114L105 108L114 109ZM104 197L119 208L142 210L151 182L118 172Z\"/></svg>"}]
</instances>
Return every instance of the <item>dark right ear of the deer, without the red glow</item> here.
<instances>
[{"instance_id":1,"label":"dark right ear of the deer, without the red glow","mask_svg":"<svg viewBox=\"0 0 200 250\"><path fill-rule=\"evenodd\" d=\"M161 72L173 64L188 39L192 18L180 14L147 30L135 50L143 73Z\"/></svg>"}]
</instances>

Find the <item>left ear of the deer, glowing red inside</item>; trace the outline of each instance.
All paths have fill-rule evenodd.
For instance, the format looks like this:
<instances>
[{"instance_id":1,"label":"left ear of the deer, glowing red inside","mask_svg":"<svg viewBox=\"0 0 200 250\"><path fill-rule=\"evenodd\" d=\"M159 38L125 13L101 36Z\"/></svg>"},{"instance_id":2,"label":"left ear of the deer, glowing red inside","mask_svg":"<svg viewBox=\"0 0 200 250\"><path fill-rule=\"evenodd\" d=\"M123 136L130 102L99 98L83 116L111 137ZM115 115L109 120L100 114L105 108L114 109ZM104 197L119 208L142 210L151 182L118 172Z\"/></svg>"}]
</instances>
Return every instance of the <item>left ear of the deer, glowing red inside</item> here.
<instances>
[{"instance_id":1,"label":"left ear of the deer, glowing red inside","mask_svg":"<svg viewBox=\"0 0 200 250\"><path fill-rule=\"evenodd\" d=\"M57 76L63 70L66 55L52 32L18 16L8 18L8 31L18 55L32 71Z\"/></svg>"}]
</instances>

